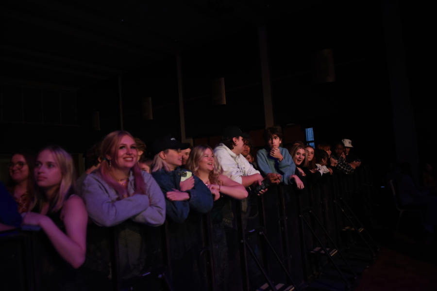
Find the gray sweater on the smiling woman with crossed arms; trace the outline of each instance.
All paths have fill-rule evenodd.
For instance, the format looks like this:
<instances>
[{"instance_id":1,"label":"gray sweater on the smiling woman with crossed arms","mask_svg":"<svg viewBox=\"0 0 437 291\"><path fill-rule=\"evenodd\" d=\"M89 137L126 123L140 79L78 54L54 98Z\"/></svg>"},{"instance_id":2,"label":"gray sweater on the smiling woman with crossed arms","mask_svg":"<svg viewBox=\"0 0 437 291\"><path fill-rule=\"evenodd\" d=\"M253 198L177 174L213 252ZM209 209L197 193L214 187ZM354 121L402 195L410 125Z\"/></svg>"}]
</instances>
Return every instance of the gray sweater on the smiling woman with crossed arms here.
<instances>
[{"instance_id":1,"label":"gray sweater on the smiling woman with crossed arms","mask_svg":"<svg viewBox=\"0 0 437 291\"><path fill-rule=\"evenodd\" d=\"M99 226L115 226L132 219L148 226L160 226L166 219L166 201L161 188L146 171L141 172L146 183L146 195L134 193L134 175L130 172L129 197L118 200L117 192L100 176L89 174L81 187L88 216Z\"/></svg>"}]
</instances>

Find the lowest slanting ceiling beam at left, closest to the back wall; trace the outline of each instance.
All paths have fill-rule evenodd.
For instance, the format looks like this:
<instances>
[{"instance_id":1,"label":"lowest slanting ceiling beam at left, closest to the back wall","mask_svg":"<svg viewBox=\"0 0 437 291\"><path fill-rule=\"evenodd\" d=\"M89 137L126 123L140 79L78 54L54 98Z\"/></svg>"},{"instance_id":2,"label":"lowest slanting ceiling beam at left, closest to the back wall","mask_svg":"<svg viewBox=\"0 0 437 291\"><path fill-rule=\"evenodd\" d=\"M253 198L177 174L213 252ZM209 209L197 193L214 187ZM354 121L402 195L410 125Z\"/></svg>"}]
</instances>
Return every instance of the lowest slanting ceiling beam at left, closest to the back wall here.
<instances>
[{"instance_id":1,"label":"lowest slanting ceiling beam at left, closest to the back wall","mask_svg":"<svg viewBox=\"0 0 437 291\"><path fill-rule=\"evenodd\" d=\"M24 54L24 55L35 56L35 57L44 58L44 59L48 59L51 61L65 63L65 64L80 65L80 66L83 66L83 67L88 68L88 69L104 71L105 73L111 74L112 76L118 76L118 75L121 75L124 73L123 70L114 69L114 68L110 68L110 67L103 66L103 65L91 64L91 63L87 63L84 61L78 61L78 60L69 59L66 57L60 57L60 56L56 56L56 55L53 55L50 53L34 51L34 50L30 50L30 49L17 48L14 46L9 46L9 45L4 45L4 44L0 44L0 49L19 52L19 53Z\"/></svg>"}]
</instances>

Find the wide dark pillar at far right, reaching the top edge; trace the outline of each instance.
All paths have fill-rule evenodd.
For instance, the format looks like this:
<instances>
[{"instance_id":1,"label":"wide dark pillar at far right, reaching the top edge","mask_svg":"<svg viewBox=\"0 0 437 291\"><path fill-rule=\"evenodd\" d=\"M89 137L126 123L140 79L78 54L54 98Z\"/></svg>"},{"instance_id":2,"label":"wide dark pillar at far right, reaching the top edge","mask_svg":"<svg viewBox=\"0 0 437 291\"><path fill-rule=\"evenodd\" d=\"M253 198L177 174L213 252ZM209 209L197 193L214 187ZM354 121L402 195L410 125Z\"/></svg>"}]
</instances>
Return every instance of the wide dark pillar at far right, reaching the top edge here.
<instances>
[{"instance_id":1,"label":"wide dark pillar at far right, reaching the top edge","mask_svg":"<svg viewBox=\"0 0 437 291\"><path fill-rule=\"evenodd\" d=\"M419 153L416 124L410 100L399 3L397 0L381 0L381 10L393 109L396 156L398 162L409 162L415 178L418 178Z\"/></svg>"}]
</instances>

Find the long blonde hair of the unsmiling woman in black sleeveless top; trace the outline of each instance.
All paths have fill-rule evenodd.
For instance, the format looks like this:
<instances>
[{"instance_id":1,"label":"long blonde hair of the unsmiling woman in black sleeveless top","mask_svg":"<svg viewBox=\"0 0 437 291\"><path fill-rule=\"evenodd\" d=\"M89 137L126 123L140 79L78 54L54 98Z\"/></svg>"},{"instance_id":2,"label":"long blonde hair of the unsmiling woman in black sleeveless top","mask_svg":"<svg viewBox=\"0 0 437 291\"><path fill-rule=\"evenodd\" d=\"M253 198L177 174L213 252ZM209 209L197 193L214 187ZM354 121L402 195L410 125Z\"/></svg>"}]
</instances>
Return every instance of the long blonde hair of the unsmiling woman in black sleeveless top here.
<instances>
[{"instance_id":1,"label":"long blonde hair of the unsmiling woman in black sleeveless top","mask_svg":"<svg viewBox=\"0 0 437 291\"><path fill-rule=\"evenodd\" d=\"M37 187L35 192L35 203L39 204L39 212L41 212L44 202L49 202L49 212L59 211L68 199L69 194L75 191L76 186L76 171L74 170L74 163L71 155L67 153L60 146L48 146L40 151L45 150L50 151L50 153L55 158L55 162L59 165L61 170L62 178L61 183L59 183L58 189L55 191L50 200L43 194L43 191Z\"/></svg>"}]
</instances>

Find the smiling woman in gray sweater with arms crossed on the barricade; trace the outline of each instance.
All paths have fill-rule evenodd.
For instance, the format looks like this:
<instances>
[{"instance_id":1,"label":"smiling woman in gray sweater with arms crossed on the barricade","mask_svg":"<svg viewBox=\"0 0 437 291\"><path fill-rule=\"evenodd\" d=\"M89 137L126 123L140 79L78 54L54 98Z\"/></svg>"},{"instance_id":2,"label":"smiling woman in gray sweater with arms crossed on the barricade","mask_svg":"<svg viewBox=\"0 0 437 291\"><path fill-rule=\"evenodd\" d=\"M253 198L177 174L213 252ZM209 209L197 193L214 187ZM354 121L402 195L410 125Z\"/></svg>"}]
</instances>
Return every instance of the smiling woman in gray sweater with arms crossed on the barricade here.
<instances>
[{"instance_id":1,"label":"smiling woman in gray sweater with arms crossed on the barricade","mask_svg":"<svg viewBox=\"0 0 437 291\"><path fill-rule=\"evenodd\" d=\"M166 202L156 181L137 165L134 138L127 131L109 133L101 144L101 167L88 175L81 187L86 210L99 226L115 226L131 219L160 226Z\"/></svg>"}]
</instances>

